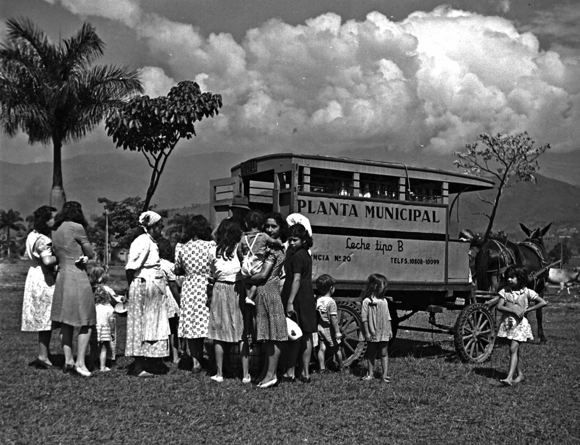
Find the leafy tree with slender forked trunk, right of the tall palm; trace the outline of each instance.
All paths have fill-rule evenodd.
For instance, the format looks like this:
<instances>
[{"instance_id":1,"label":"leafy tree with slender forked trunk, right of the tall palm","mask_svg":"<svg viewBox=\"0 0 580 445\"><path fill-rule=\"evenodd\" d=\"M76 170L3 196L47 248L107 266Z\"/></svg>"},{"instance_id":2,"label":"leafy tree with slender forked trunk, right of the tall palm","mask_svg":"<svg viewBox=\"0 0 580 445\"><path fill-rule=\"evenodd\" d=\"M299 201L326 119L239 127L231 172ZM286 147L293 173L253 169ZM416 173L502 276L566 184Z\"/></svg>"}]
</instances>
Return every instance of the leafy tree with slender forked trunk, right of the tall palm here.
<instances>
[{"instance_id":1,"label":"leafy tree with slender forked trunk, right of the tall palm","mask_svg":"<svg viewBox=\"0 0 580 445\"><path fill-rule=\"evenodd\" d=\"M179 140L195 136L195 121L219 114L221 107L220 94L202 93L197 83L183 81L172 87L167 96L134 97L107 118L107 134L113 137L117 148L142 152L153 170L144 210L149 207L167 158Z\"/></svg>"}]
</instances>

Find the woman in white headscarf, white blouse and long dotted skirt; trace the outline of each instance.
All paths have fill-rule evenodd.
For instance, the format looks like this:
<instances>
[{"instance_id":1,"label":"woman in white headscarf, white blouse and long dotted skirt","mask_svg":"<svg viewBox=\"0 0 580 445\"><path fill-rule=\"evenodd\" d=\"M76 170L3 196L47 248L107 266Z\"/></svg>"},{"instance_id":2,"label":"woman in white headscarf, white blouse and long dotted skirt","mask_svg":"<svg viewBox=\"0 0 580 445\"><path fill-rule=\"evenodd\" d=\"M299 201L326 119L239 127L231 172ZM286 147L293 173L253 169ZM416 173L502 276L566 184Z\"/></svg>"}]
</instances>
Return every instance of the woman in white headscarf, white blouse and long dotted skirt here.
<instances>
[{"instance_id":1,"label":"woman in white headscarf, white blouse and long dotted skirt","mask_svg":"<svg viewBox=\"0 0 580 445\"><path fill-rule=\"evenodd\" d=\"M135 358L133 375L153 377L145 370L145 358L169 353L165 278L155 244L163 224L161 216L149 210L140 214L139 225L144 233L131 243L125 266L129 284L125 356Z\"/></svg>"}]
</instances>

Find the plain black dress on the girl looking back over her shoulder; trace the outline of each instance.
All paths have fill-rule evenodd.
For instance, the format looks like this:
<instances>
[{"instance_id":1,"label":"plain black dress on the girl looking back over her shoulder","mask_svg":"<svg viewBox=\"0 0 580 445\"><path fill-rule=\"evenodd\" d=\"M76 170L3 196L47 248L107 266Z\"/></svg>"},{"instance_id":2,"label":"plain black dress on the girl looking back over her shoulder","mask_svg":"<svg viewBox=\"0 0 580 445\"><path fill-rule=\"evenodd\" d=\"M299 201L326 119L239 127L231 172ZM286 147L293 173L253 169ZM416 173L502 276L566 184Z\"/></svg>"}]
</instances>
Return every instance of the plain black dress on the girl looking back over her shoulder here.
<instances>
[{"instance_id":1,"label":"plain black dress on the girl looking back over her shoulder","mask_svg":"<svg viewBox=\"0 0 580 445\"><path fill-rule=\"evenodd\" d=\"M295 273L300 273L300 288L292 303L294 312L296 312L296 323L305 334L317 332L318 319L314 289L312 287L312 260L308 251L306 249L288 250L288 255L284 262L284 272L286 273L284 287L282 287L284 309L288 307L293 276Z\"/></svg>"}]
</instances>

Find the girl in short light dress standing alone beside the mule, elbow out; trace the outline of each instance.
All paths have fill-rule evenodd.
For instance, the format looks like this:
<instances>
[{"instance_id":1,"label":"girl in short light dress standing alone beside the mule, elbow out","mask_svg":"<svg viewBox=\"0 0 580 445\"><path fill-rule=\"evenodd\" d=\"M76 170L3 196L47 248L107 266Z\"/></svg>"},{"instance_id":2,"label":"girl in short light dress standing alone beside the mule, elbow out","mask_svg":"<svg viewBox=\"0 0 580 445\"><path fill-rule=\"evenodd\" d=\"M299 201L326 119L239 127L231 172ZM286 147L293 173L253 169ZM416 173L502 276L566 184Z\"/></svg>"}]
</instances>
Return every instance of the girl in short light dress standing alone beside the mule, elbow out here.
<instances>
[{"instance_id":1,"label":"girl in short light dress standing alone beside the mule, elbow out","mask_svg":"<svg viewBox=\"0 0 580 445\"><path fill-rule=\"evenodd\" d=\"M543 308L546 303L535 291L525 287L527 271L523 264L514 264L505 271L506 287L499 291L498 311L502 312L502 321L499 325L498 337L509 340L509 372L501 382L513 385L521 382L524 373L520 363L520 343L534 340L530 323L525 318L528 312ZM531 302L535 304L530 306ZM517 373L517 374L516 374ZM516 374L516 378L514 378Z\"/></svg>"}]
</instances>

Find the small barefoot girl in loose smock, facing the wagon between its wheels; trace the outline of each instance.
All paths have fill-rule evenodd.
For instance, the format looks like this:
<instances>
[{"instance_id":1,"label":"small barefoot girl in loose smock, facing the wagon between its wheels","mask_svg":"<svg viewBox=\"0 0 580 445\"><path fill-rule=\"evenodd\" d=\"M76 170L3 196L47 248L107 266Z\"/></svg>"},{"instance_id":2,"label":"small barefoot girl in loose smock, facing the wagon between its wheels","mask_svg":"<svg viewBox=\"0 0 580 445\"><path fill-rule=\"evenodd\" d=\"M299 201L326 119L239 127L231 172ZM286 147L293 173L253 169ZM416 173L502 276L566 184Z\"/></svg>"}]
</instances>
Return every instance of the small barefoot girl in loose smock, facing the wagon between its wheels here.
<instances>
[{"instance_id":1,"label":"small barefoot girl in loose smock, facing the wagon between its wheels","mask_svg":"<svg viewBox=\"0 0 580 445\"><path fill-rule=\"evenodd\" d=\"M362 333L367 341L367 375L362 380L372 380L375 369L376 352L380 352L383 380L390 382L389 356L387 348L393 335L389 305L385 298L387 279L380 273L373 273L367 279L365 298L362 301Z\"/></svg>"}]
</instances>

